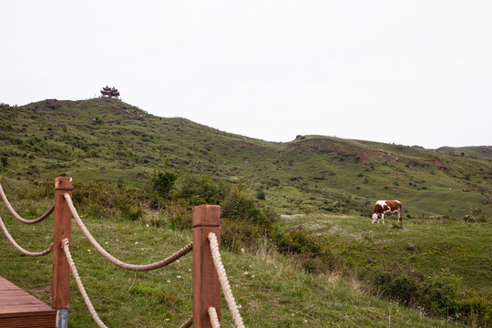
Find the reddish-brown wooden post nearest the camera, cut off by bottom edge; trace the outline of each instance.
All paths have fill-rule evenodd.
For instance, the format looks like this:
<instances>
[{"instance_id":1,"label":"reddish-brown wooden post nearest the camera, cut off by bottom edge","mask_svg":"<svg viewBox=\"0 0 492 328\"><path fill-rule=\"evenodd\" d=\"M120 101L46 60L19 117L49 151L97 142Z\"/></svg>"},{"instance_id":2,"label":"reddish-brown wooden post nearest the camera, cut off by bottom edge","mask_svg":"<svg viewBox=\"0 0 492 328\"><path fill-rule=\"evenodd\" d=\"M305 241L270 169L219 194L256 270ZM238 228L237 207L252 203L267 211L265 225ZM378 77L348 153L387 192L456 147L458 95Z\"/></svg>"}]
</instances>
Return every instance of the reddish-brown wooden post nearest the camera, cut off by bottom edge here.
<instances>
[{"instance_id":1,"label":"reddish-brown wooden post nearest the camera, cut off by bottom edge","mask_svg":"<svg viewBox=\"0 0 492 328\"><path fill-rule=\"evenodd\" d=\"M211 328L209 307L220 322L220 282L213 264L208 234L214 232L220 245L220 206L193 208L193 327Z\"/></svg>"}]
</instances>

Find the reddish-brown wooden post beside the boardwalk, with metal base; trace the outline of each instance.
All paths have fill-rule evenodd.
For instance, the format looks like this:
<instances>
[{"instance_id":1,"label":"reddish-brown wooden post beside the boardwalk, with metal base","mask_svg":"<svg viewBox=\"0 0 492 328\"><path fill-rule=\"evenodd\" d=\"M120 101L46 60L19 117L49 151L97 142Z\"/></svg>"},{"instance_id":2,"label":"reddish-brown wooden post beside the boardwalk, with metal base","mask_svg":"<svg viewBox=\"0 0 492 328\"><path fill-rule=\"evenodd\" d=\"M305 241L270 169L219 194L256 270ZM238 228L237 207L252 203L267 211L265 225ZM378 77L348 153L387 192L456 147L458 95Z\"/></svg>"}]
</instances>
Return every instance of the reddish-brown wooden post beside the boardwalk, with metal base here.
<instances>
[{"instance_id":1,"label":"reddish-brown wooden post beside the boardwalk, with metal base","mask_svg":"<svg viewBox=\"0 0 492 328\"><path fill-rule=\"evenodd\" d=\"M64 194L72 197L72 178L58 177L55 179L55 219L53 236L53 288L51 291L51 306L58 310L56 313L56 327L66 326L58 324L67 322L67 309L70 293L70 266L63 251L61 241L72 240L72 213L68 208Z\"/></svg>"}]
</instances>

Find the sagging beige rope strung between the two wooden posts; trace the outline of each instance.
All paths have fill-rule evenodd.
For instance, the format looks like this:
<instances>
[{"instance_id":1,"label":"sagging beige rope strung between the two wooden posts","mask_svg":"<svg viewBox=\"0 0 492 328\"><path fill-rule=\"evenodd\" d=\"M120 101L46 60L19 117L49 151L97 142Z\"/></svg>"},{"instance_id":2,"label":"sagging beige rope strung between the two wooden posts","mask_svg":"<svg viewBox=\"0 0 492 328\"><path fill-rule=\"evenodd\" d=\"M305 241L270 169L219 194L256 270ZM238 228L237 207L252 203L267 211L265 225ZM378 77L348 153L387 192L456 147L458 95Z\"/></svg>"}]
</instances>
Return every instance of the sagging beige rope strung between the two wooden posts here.
<instances>
[{"instance_id":1,"label":"sagging beige rope strung between the two wooden posts","mask_svg":"<svg viewBox=\"0 0 492 328\"><path fill-rule=\"evenodd\" d=\"M67 200L68 207L72 211L72 215L74 216L75 220L77 221L77 225L80 228L80 230L84 233L84 236L86 236L87 240L90 242L90 244L104 257L106 260L110 261L114 265L129 270L129 271L135 271L135 272L146 272L150 270L155 270L162 268L173 261L178 260L181 256L187 254L193 249L193 243L190 242L188 245L180 249L179 251L176 251L174 254L169 256L168 258L157 261L154 263L150 264L143 264L143 265L138 265L138 264L129 264L124 261L119 261L117 258L115 258L113 255L109 254L108 251L106 251L104 248L102 248L101 245L92 237L90 232L87 230L86 225L84 222L80 219L78 216L77 210L74 206L74 203L72 202L72 199L70 198L70 195L67 193L63 195L65 197L65 200Z\"/></svg>"}]
</instances>

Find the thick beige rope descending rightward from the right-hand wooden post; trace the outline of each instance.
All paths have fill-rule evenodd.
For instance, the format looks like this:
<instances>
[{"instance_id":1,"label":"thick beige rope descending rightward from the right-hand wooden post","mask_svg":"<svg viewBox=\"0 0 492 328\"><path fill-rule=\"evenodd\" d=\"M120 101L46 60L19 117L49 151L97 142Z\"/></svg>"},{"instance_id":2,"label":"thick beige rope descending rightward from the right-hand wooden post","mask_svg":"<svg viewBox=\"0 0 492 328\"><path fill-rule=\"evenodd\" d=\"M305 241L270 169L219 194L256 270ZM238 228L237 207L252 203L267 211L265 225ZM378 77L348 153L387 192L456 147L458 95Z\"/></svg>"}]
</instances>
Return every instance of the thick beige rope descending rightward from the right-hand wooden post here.
<instances>
[{"instance_id":1,"label":"thick beige rope descending rightward from the right-hand wooden post","mask_svg":"<svg viewBox=\"0 0 492 328\"><path fill-rule=\"evenodd\" d=\"M222 287L222 292L224 292L227 306L231 312L232 321L234 322L234 326L236 328L244 328L241 314L239 313L238 306L236 305L236 300L234 300L234 295L232 295L231 286L229 285L227 274L225 272L224 265L222 264L222 259L220 258L219 241L217 241L217 236L213 232L210 232L208 237L210 241L210 251L212 254L213 264L215 264L215 270L217 270L217 274L219 275L220 286Z\"/></svg>"}]
</instances>

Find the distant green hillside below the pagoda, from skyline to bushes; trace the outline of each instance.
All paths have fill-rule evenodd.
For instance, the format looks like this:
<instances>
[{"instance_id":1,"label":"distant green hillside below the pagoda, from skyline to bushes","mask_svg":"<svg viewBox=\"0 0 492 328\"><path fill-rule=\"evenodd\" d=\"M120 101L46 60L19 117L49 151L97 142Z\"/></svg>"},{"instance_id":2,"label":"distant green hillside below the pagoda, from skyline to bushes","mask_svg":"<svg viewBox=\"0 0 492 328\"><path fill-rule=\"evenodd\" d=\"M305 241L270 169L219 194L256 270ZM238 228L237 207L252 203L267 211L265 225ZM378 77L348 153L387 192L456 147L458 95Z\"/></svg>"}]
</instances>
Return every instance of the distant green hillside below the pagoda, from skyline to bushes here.
<instances>
[{"instance_id":1,"label":"distant green hillside below the pagoda, from skyline to bushes","mask_svg":"<svg viewBox=\"0 0 492 328\"><path fill-rule=\"evenodd\" d=\"M4 179L67 174L145 188L155 169L241 181L279 213L372 211L398 199L407 217L492 215L492 148L422 149L364 140L299 136L267 142L184 118L159 118L113 99L48 99L2 105ZM487 202L487 201L486 201ZM365 205L369 203L369 206Z\"/></svg>"}]
</instances>

